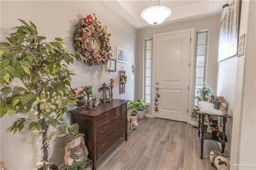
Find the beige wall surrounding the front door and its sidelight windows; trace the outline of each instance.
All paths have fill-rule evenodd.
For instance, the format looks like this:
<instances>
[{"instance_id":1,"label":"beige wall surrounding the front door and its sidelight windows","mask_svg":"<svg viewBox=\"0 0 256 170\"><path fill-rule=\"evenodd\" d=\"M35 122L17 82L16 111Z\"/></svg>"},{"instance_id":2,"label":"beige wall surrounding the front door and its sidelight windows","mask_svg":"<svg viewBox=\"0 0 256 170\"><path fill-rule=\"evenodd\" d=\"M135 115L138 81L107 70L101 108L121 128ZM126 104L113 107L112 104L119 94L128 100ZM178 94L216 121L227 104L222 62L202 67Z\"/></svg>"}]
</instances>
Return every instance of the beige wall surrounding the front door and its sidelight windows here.
<instances>
[{"instance_id":1,"label":"beige wall surrounding the front door and its sidelight windows","mask_svg":"<svg viewBox=\"0 0 256 170\"><path fill-rule=\"evenodd\" d=\"M207 75L206 82L208 87L216 94L216 82L217 82L217 58L218 58L218 40L219 40L219 16L212 16L197 20L190 20L186 22L179 22L175 24L158 26L156 28L148 28L138 31L138 53L136 65L143 65L143 45L145 38L153 38L153 34L172 32L177 30L184 30L189 28L195 28L196 32L200 30L209 30L209 47L208 47L208 60L207 60ZM196 40L192 40L196 43ZM191 63L192 64L192 63ZM137 68L136 68L137 69ZM142 82L143 82L143 67L139 67L136 72L136 96L139 98L142 96ZM154 82L153 82L154 83ZM154 94L152 94L154 99ZM191 106L192 107L192 106ZM151 109L147 109L147 114L152 114Z\"/></svg>"}]
</instances>

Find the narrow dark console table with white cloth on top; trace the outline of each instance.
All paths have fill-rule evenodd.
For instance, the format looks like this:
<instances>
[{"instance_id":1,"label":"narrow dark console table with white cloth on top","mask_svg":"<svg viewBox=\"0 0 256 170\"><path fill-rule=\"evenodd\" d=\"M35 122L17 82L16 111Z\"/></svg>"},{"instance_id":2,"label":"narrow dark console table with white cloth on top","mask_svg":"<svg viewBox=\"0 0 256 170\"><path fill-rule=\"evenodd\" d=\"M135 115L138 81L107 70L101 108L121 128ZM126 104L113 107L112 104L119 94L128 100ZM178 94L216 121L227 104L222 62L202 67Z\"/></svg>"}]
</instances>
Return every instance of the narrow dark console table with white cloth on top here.
<instances>
[{"instance_id":1,"label":"narrow dark console table with white cloth on top","mask_svg":"<svg viewBox=\"0 0 256 170\"><path fill-rule=\"evenodd\" d=\"M214 140L221 143L221 153L224 153L225 149L225 131L226 131L226 122L227 118L232 118L230 115L222 115L220 110L216 110L213 108L213 103L209 103L208 101L198 101L198 108L199 108L199 119L198 119L198 136L200 136L201 132L201 159L203 159L203 149L204 149L204 140ZM223 117L223 125L222 125L222 140L220 140L216 136L210 136L211 133L207 132L207 126L204 126L204 117L205 115L209 116L217 116L217 117ZM202 118L202 123L201 123ZM220 128L220 127L219 127ZM204 130L206 130L206 133L204 133Z\"/></svg>"}]
</instances>

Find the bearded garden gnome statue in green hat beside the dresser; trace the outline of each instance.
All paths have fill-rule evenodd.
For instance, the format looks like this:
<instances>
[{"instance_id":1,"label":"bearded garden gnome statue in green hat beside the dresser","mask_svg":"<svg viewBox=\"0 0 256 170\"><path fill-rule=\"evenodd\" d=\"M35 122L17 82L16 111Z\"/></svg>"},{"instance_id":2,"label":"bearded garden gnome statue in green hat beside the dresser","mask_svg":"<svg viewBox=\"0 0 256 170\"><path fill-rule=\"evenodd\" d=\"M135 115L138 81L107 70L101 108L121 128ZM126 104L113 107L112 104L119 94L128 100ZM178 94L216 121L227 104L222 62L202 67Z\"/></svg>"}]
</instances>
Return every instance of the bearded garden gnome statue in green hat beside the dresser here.
<instances>
[{"instance_id":1,"label":"bearded garden gnome statue in green hat beside the dresser","mask_svg":"<svg viewBox=\"0 0 256 170\"><path fill-rule=\"evenodd\" d=\"M84 134L79 133L78 123L68 127L69 137L65 140L66 170L90 170L86 168L88 149L84 144Z\"/></svg>"}]
</instances>

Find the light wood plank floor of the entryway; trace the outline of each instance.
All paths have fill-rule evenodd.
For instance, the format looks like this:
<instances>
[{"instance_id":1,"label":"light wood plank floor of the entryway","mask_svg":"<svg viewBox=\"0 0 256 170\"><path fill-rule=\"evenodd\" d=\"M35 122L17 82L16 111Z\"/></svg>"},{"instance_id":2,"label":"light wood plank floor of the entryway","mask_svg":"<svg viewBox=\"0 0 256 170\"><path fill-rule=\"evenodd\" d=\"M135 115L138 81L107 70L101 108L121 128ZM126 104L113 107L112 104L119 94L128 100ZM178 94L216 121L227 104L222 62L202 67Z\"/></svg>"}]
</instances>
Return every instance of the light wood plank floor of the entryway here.
<instances>
[{"instance_id":1,"label":"light wood plank floor of the entryway","mask_svg":"<svg viewBox=\"0 0 256 170\"><path fill-rule=\"evenodd\" d=\"M215 170L209 153L217 142L204 140L200 159L200 137L193 125L158 118L138 121L136 130L108 149L97 170Z\"/></svg>"}]
</instances>

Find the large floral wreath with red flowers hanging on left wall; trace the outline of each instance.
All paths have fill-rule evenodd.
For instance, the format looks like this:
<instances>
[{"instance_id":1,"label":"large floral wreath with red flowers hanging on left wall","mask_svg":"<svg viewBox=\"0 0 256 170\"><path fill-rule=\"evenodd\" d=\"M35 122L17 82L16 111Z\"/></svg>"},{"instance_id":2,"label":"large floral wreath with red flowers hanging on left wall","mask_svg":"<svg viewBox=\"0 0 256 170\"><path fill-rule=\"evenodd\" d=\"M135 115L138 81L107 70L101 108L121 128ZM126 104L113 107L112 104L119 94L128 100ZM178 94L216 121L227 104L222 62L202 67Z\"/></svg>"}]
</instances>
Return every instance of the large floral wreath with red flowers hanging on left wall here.
<instances>
[{"instance_id":1,"label":"large floral wreath with red flowers hanging on left wall","mask_svg":"<svg viewBox=\"0 0 256 170\"><path fill-rule=\"evenodd\" d=\"M112 57L112 49L109 43L111 34L107 34L107 26L102 26L93 13L81 18L75 25L73 40L78 53L87 59L90 65L107 63Z\"/></svg>"}]
</instances>

